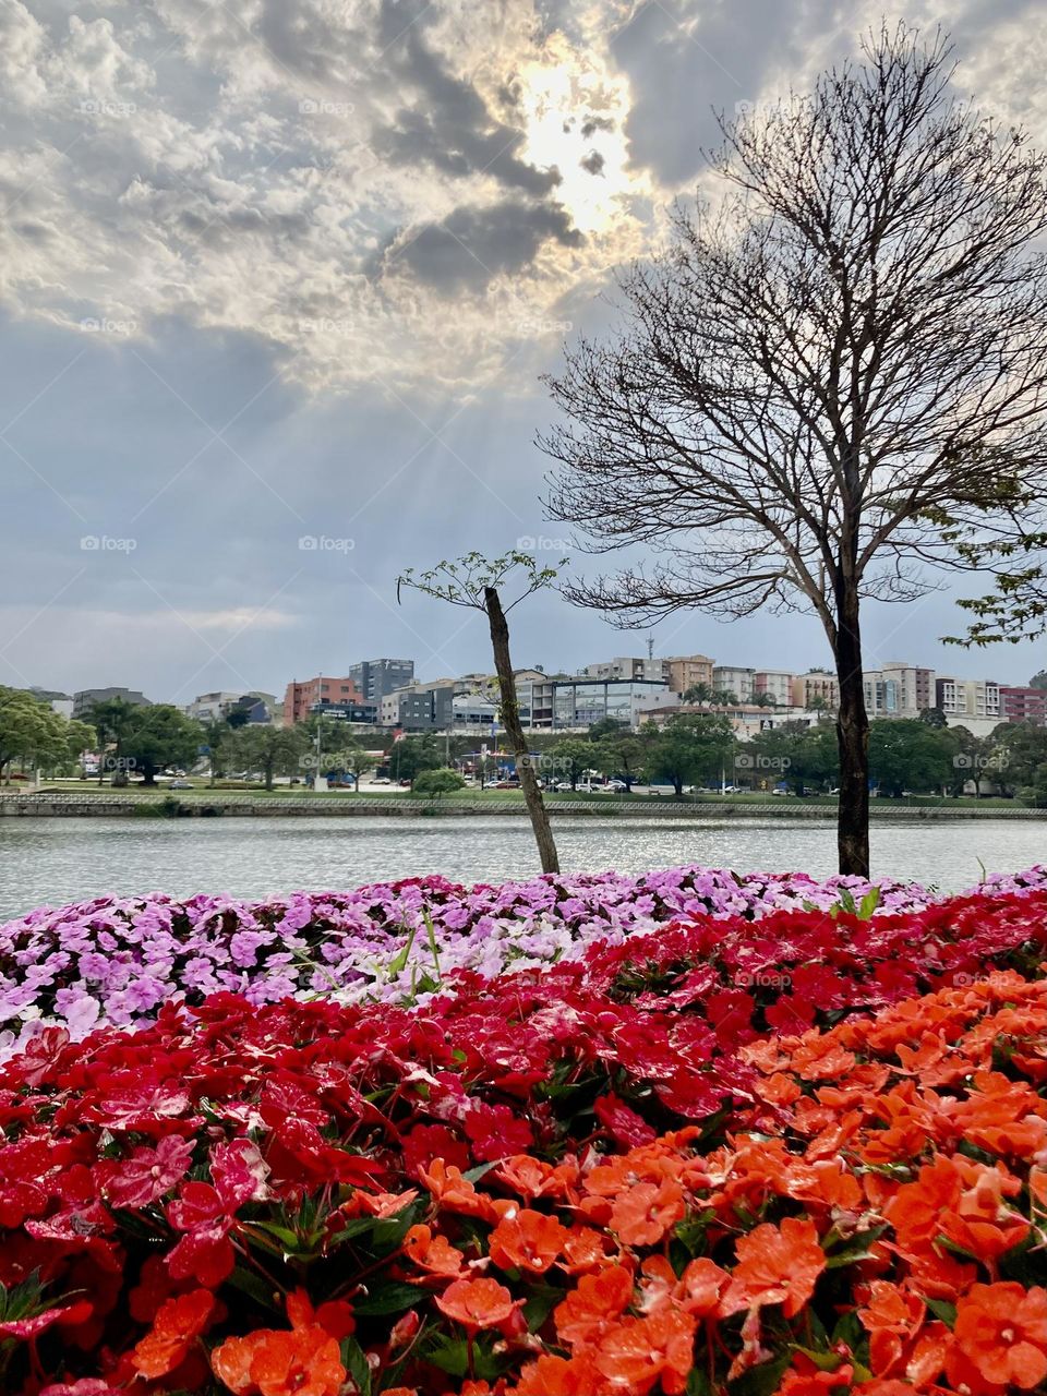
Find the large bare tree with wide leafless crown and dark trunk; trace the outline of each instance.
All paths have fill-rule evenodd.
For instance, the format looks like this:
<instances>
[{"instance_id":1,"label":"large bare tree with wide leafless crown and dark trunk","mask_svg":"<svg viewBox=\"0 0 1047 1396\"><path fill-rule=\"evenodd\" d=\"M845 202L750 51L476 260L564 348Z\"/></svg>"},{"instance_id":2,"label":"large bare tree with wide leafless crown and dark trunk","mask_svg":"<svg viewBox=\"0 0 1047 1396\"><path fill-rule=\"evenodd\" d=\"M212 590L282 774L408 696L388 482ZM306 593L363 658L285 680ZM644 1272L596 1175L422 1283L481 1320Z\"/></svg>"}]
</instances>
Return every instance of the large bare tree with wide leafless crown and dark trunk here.
<instances>
[{"instance_id":1,"label":"large bare tree with wide leafless crown and dark trunk","mask_svg":"<svg viewBox=\"0 0 1047 1396\"><path fill-rule=\"evenodd\" d=\"M628 327L551 381L551 514L666 554L567 588L646 627L812 611L840 704L839 866L868 871L861 602L909 600L956 539L1044 490L1043 156L951 95L899 27L810 95L722 120L716 212L621 281ZM986 514L984 511L988 511ZM997 532L994 536L1002 536Z\"/></svg>"}]
</instances>

